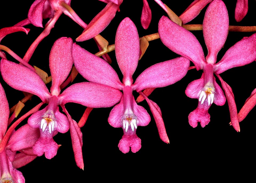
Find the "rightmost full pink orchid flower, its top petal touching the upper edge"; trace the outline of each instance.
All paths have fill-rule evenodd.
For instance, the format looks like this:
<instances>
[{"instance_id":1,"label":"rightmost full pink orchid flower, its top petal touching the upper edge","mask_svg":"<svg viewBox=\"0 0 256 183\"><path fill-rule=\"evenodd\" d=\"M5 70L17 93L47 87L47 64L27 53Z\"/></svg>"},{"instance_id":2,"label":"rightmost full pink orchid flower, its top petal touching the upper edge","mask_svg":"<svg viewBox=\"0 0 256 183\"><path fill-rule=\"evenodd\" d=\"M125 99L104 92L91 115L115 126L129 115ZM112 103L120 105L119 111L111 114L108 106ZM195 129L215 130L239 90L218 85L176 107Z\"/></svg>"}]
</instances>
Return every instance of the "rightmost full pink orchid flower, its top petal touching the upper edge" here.
<instances>
[{"instance_id":1,"label":"rightmost full pink orchid flower, its top petal touching the upper edge","mask_svg":"<svg viewBox=\"0 0 256 183\"><path fill-rule=\"evenodd\" d=\"M205 127L210 122L208 109L212 103L224 105L226 98L221 87L215 81L215 74L221 81L229 104L231 124L240 131L234 94L231 87L222 80L222 72L253 62L256 58L256 34L245 38L229 48L223 58L217 62L217 54L223 47L229 29L229 18L225 4L214 0L206 10L203 20L203 36L208 55L204 56L202 47L195 36L167 17L159 21L160 38L170 50L191 60L197 70L203 70L202 77L194 80L186 88L186 95L198 99L198 107L189 114L189 124L196 127L201 123Z\"/></svg>"}]
</instances>

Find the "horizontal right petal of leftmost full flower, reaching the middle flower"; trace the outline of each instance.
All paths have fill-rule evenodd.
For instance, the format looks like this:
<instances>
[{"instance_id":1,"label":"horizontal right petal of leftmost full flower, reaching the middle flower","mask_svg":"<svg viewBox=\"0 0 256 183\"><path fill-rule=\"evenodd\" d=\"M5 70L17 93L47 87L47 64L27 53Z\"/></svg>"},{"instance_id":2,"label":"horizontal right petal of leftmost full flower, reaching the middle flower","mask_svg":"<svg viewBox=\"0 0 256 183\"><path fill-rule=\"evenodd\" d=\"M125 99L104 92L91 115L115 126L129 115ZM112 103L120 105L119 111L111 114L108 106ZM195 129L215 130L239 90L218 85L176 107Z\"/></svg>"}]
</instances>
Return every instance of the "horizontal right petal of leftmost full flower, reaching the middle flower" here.
<instances>
[{"instance_id":1,"label":"horizontal right petal of leftmost full flower, reaching the middle flower","mask_svg":"<svg viewBox=\"0 0 256 183\"><path fill-rule=\"evenodd\" d=\"M60 104L74 102L87 107L111 107L122 96L119 90L98 83L82 82L68 87L59 96Z\"/></svg>"}]
</instances>

